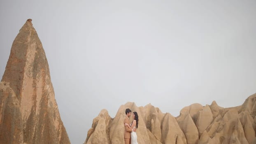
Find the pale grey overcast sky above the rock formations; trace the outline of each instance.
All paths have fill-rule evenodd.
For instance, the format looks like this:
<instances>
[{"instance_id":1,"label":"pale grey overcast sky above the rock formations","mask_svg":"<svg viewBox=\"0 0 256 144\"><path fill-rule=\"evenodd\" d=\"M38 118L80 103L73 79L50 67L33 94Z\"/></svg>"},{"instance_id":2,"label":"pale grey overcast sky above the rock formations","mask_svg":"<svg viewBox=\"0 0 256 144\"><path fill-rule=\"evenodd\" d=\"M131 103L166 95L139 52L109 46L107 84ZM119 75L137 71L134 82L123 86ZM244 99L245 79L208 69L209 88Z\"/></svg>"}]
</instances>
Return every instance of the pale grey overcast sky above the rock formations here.
<instances>
[{"instance_id":1,"label":"pale grey overcast sky above the rock formations","mask_svg":"<svg viewBox=\"0 0 256 144\"><path fill-rule=\"evenodd\" d=\"M0 77L27 19L72 144L101 109L241 105L256 93L256 1L1 0Z\"/></svg>"}]
</instances>

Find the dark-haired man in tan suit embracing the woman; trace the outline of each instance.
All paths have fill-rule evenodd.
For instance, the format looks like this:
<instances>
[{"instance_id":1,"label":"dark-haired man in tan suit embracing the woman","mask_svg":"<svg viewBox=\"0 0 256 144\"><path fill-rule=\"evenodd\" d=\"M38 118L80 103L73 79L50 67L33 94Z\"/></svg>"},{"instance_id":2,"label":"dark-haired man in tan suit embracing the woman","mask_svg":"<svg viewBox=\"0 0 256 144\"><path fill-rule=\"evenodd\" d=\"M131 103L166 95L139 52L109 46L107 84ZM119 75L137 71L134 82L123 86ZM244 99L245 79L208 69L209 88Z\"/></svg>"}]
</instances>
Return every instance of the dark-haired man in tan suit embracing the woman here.
<instances>
[{"instance_id":1,"label":"dark-haired man in tan suit embracing the woman","mask_svg":"<svg viewBox=\"0 0 256 144\"><path fill-rule=\"evenodd\" d=\"M125 125L127 123L130 125L129 117L132 115L132 111L130 109L126 109L126 118L124 118L123 125L124 125L124 143L130 144L130 132L132 132L132 129Z\"/></svg>"}]
</instances>

